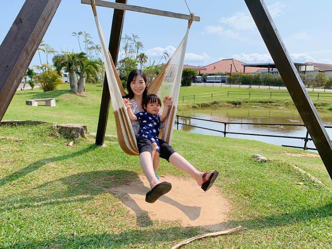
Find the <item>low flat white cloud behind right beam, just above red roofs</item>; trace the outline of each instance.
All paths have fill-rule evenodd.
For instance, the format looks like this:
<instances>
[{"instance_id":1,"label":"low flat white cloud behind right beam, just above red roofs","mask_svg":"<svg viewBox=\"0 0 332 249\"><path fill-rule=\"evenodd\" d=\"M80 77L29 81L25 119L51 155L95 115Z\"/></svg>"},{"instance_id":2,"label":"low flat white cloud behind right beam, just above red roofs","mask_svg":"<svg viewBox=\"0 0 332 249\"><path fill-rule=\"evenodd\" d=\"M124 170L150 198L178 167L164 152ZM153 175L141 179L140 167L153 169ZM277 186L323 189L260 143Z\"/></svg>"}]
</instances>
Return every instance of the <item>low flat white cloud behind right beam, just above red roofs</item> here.
<instances>
[{"instance_id":1,"label":"low flat white cloud behind right beam, just above red roofs","mask_svg":"<svg viewBox=\"0 0 332 249\"><path fill-rule=\"evenodd\" d=\"M246 63L265 63L265 62L273 62L270 54L234 54L233 58L239 61L243 61ZM306 61L312 61L315 62L315 59L306 53L292 53L290 54L290 58L293 60L293 62L306 62Z\"/></svg>"}]
</instances>

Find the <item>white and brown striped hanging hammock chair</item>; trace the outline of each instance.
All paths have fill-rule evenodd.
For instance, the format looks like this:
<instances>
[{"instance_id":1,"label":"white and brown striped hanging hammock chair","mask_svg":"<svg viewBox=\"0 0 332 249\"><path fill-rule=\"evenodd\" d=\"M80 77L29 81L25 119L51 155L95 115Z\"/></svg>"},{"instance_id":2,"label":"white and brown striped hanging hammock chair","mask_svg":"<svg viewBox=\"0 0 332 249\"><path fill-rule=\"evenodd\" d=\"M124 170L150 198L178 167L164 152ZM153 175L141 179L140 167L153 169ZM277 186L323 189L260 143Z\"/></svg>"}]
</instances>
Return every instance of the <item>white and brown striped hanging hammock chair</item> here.
<instances>
[{"instance_id":1,"label":"white and brown striped hanging hammock chair","mask_svg":"<svg viewBox=\"0 0 332 249\"><path fill-rule=\"evenodd\" d=\"M92 1L92 3L93 2L94 1ZM123 89L112 57L106 46L104 34L99 24L96 6L94 4L92 4L92 10L98 30L102 55L104 58L107 82L110 89L113 113L118 133L118 141L120 147L125 153L129 155L139 155L136 138L122 98L122 96L126 95L126 93ZM159 138L163 139L168 144L170 144L172 138L188 34L190 26L194 21L194 17L195 15L192 13L192 19L188 21L187 32L180 42L180 45L175 50L169 61L165 64L161 72L152 80L147 88L148 94L156 94L160 99L163 99L165 96L172 97L173 106L170 108L164 128L161 129L159 133ZM162 109L163 107L161 107L161 112Z\"/></svg>"}]
</instances>

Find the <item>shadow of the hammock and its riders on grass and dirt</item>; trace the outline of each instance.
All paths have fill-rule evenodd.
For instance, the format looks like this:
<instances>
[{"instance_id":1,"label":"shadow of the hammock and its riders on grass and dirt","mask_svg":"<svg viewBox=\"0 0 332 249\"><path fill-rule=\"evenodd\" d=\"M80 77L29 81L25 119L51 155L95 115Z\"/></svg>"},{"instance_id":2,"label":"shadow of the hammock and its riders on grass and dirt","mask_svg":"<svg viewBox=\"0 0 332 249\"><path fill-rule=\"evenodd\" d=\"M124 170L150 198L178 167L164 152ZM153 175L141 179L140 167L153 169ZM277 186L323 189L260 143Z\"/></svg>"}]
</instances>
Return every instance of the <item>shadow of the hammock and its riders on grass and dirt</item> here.
<instances>
[{"instance_id":1,"label":"shadow of the hammock and its riders on grass and dirt","mask_svg":"<svg viewBox=\"0 0 332 249\"><path fill-rule=\"evenodd\" d=\"M113 187L127 184L133 179L139 180L138 175L125 170L92 171L73 174L5 197L0 201L0 211L85 202L92 200L100 193L114 193L112 191ZM137 226L147 227L152 225L148 212L141 209L130 195L141 195L144 197L150 189L145 187L140 180L138 184L141 184L143 187L129 188L129 192L121 195L119 199L120 201L124 200L124 205L135 212ZM63 185L66 187L63 188ZM128 199L131 199L131 201L125 201ZM167 196L162 196L159 200L178 208L190 220L196 220L200 216L201 207L183 205Z\"/></svg>"}]
</instances>

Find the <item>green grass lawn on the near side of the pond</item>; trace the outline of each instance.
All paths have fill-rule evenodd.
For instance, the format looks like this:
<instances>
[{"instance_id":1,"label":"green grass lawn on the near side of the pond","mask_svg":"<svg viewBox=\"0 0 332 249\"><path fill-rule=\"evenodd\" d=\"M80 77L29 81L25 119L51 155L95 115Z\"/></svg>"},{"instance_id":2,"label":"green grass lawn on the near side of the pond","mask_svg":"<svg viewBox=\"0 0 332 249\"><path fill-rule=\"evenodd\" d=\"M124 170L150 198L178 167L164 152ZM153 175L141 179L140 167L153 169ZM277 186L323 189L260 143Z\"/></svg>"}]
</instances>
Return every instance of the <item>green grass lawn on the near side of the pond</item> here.
<instances>
[{"instance_id":1,"label":"green grass lawn on the near side of the pond","mask_svg":"<svg viewBox=\"0 0 332 249\"><path fill-rule=\"evenodd\" d=\"M68 93L68 85L47 93L19 91L3 120L82 123L95 131L101 87L86 89L83 96ZM55 97L56 106L25 105L26 99L44 97ZM114 127L110 113L107 133L116 134ZM208 232L128 213L106 189L130 182L142 170L139 158L126 155L116 138L105 138L106 147L95 146L93 137L69 147L50 124L1 125L0 136L6 137L0 139L1 248L170 248ZM172 145L199 170L219 171L215 184L231 204L223 225L246 228L182 248L331 247L332 181L321 159L283 154L314 153L181 130L174 130ZM269 160L258 163L254 153ZM159 174L188 177L165 160Z\"/></svg>"}]
</instances>

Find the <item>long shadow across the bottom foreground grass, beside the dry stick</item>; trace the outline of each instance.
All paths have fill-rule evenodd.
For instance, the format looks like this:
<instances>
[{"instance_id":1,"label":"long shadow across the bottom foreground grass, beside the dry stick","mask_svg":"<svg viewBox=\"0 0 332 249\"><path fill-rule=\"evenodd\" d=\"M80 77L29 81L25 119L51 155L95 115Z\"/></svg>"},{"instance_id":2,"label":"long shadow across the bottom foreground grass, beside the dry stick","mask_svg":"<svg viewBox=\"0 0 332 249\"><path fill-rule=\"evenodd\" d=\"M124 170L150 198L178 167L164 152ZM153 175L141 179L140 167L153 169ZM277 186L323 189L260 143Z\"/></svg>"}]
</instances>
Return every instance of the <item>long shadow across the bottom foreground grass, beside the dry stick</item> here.
<instances>
[{"instance_id":1,"label":"long shadow across the bottom foreground grass, beside the dry stick","mask_svg":"<svg viewBox=\"0 0 332 249\"><path fill-rule=\"evenodd\" d=\"M332 216L332 203L313 209L302 209L293 213L272 215L268 217L260 217L252 220L230 221L222 223L223 227L234 227L242 225L247 229L267 229L270 227L291 225L310 221L312 219L323 219ZM68 234L58 235L54 239L39 240L31 238L20 243L10 245L8 248L30 248L38 246L51 246L52 248L75 248L75 247L123 247L132 246L139 243L152 242L170 242L174 240L183 240L193 236L197 236L205 232L205 227L169 227L166 229L155 230L139 230L130 229L122 233L99 233L75 236ZM239 231L241 232L241 231ZM232 234L224 235L232 236ZM175 244L175 242L174 242ZM153 245L154 247L156 245Z\"/></svg>"}]
</instances>

